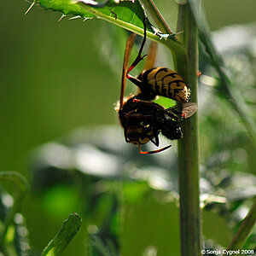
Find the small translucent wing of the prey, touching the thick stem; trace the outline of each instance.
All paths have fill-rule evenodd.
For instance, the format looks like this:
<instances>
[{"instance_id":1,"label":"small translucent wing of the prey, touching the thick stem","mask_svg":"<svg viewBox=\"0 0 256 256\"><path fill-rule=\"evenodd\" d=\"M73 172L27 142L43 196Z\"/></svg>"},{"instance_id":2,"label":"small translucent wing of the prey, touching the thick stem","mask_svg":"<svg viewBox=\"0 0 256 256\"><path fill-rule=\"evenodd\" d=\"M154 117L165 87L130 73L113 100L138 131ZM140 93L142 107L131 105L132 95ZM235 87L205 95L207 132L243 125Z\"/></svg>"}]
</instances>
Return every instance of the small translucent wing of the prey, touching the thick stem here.
<instances>
[{"instance_id":1,"label":"small translucent wing of the prey, touching the thick stem","mask_svg":"<svg viewBox=\"0 0 256 256\"><path fill-rule=\"evenodd\" d=\"M166 110L170 113L174 113L179 118L188 119L197 111L197 104L195 102L186 102L183 104L177 104Z\"/></svg>"}]
</instances>

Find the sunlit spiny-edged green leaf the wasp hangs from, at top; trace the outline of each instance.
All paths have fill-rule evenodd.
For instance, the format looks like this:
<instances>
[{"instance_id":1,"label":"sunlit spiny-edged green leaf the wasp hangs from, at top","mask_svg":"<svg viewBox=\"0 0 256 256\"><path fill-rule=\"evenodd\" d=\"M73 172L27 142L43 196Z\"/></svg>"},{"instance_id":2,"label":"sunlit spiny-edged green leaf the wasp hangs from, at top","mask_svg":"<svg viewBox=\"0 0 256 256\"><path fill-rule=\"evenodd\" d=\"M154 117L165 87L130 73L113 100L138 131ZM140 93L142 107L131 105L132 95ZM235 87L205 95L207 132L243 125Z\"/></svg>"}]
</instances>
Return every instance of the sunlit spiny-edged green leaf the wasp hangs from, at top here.
<instances>
[{"instance_id":1,"label":"sunlit spiny-edged green leaf the wasp hangs from, at top","mask_svg":"<svg viewBox=\"0 0 256 256\"><path fill-rule=\"evenodd\" d=\"M96 3L88 0L35 0L32 5L40 5L44 9L51 9L61 12L63 15L73 15L84 19L99 18L107 20L116 26L123 27L131 32L143 36L143 19L145 11L139 1L121 1L119 3L108 0L106 3ZM31 6L32 7L32 6ZM26 13L31 9L26 11ZM150 9L150 14L154 19L159 18L159 14L154 9ZM154 13L154 14L153 14ZM161 18L159 18L161 19ZM166 32L166 30L165 30ZM151 40L166 44L177 54L186 55L183 46L178 43L175 34L164 34L147 20L147 37ZM165 40L161 40L165 38Z\"/></svg>"}]
</instances>

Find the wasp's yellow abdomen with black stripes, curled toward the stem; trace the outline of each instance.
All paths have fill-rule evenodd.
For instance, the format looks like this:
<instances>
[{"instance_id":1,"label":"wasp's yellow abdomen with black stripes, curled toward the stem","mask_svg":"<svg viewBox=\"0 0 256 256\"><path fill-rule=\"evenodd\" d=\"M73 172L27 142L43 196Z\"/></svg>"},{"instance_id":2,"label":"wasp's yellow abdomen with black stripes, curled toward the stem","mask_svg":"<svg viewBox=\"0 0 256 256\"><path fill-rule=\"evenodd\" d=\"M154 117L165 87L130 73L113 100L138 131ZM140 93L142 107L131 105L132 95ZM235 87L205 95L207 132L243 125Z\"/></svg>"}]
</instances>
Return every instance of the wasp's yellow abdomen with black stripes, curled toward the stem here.
<instances>
[{"instance_id":1,"label":"wasp's yellow abdomen with black stripes, curled toward the stem","mask_svg":"<svg viewBox=\"0 0 256 256\"><path fill-rule=\"evenodd\" d=\"M190 91L183 78L172 69L154 67L143 73L143 90L177 102L188 102Z\"/></svg>"}]
</instances>

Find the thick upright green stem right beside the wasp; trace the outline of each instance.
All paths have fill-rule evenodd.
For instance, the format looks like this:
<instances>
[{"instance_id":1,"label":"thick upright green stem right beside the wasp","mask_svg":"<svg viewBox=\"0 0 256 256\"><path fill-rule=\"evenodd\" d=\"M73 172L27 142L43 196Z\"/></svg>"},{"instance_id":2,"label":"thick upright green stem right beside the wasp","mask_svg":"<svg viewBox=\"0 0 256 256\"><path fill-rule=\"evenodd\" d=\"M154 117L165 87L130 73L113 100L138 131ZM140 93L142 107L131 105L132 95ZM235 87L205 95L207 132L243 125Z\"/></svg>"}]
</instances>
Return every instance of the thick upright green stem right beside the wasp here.
<instances>
[{"instance_id":1,"label":"thick upright green stem right beside the wasp","mask_svg":"<svg viewBox=\"0 0 256 256\"><path fill-rule=\"evenodd\" d=\"M197 102L197 27L188 4L179 5L177 31L183 31L180 40L187 50L188 61L177 72L189 84L191 102ZM183 121L183 138L178 143L178 170L180 193L180 232L182 256L201 254L201 209L199 189L198 116Z\"/></svg>"}]
</instances>

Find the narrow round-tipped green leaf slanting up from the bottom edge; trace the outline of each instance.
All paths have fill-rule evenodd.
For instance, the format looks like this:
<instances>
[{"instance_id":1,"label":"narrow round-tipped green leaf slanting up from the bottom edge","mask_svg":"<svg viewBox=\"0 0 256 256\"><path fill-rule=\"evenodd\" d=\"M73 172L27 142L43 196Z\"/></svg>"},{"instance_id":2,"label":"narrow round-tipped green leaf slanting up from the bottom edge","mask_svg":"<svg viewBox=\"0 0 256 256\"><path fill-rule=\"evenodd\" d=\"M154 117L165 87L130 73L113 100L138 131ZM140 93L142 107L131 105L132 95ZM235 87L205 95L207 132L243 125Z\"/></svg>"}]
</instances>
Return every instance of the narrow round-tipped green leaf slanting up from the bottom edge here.
<instances>
[{"instance_id":1,"label":"narrow round-tipped green leaf slanting up from the bottom edge","mask_svg":"<svg viewBox=\"0 0 256 256\"><path fill-rule=\"evenodd\" d=\"M79 214L73 213L69 215L69 218L63 222L61 230L55 236L55 238L49 242L48 246L44 248L41 256L54 256L60 255L62 251L67 247L68 243L79 232L79 228L82 224L82 219Z\"/></svg>"}]
</instances>

